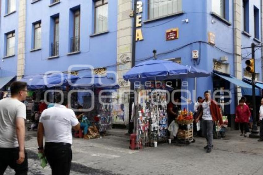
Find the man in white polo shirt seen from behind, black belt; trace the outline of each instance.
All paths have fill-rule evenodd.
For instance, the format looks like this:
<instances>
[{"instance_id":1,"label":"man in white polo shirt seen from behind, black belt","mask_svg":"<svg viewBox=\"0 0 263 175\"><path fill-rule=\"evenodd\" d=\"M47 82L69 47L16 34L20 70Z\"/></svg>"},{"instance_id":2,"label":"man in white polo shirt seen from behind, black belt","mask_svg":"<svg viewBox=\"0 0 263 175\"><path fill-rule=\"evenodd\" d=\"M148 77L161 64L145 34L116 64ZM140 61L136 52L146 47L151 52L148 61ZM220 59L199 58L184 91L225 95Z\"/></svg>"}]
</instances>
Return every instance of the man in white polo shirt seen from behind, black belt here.
<instances>
[{"instance_id":1,"label":"man in white polo shirt seen from behind, black belt","mask_svg":"<svg viewBox=\"0 0 263 175\"><path fill-rule=\"evenodd\" d=\"M57 96L56 102L63 99ZM72 109L67 109L67 100L63 105L55 104L54 107L45 109L39 119L37 142L39 152L44 152L52 169L52 175L68 175L72 160L72 134L71 128L80 129L80 123ZM43 137L45 133L45 149Z\"/></svg>"}]
</instances>

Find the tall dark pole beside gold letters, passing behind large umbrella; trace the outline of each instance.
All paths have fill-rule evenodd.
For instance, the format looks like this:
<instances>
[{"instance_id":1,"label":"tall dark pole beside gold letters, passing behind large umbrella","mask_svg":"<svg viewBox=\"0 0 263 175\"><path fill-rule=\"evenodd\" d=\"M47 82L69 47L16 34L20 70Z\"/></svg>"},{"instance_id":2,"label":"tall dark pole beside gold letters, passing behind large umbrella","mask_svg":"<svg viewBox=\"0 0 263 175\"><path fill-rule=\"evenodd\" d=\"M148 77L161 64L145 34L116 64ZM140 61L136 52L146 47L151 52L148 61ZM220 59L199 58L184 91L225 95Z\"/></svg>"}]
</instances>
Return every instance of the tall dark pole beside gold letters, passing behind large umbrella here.
<instances>
[{"instance_id":1,"label":"tall dark pole beside gold letters, passing behind large umbrella","mask_svg":"<svg viewBox=\"0 0 263 175\"><path fill-rule=\"evenodd\" d=\"M131 51L131 67L135 66L135 53L136 53L136 14L137 14L137 0L134 0L133 7L133 25L132 25L132 51ZM133 122L131 122L132 103L134 102L134 83L131 83L130 101L129 101L129 126L128 133L133 133ZM136 125L136 123L134 123Z\"/></svg>"}]
</instances>

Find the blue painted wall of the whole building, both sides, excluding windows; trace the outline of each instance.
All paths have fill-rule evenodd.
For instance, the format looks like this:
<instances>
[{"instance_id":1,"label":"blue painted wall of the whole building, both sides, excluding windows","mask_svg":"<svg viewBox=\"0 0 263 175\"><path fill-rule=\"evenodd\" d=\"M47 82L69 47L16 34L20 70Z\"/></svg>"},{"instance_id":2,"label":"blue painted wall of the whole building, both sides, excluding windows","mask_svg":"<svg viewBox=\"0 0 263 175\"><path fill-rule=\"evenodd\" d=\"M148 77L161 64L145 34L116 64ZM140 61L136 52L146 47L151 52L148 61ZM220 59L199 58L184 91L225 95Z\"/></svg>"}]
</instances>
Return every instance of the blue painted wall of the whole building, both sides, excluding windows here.
<instances>
[{"instance_id":1,"label":"blue painted wall of the whole building, both sides, excluding windows","mask_svg":"<svg viewBox=\"0 0 263 175\"><path fill-rule=\"evenodd\" d=\"M18 44L18 0L17 12L3 17L5 14L5 1L1 7L0 40L5 43L5 33L15 30L15 53L17 54ZM109 33L93 36L94 32L94 3L92 0L61 0L61 3L49 7L50 1L40 0L31 4L27 2L26 18L26 49L25 49L25 75L43 74L50 70L66 71L73 64L88 64L93 67L107 67L107 70L116 71L117 58L117 1L111 0L108 3L108 30ZM136 64L153 56L153 49L157 50L157 59L181 58L183 65L196 66L208 72L213 70L213 59L220 59L227 56L230 65L230 74L234 75L234 33L233 33L233 0L226 0L228 13L226 18L231 23L227 25L221 20L213 17L211 0L183 0L182 15L164 18L158 21L144 23L148 19L148 1L142 0L142 29L143 41L136 43ZM70 31L72 30L72 14L70 9L80 6L80 54L67 55L69 53ZM249 28L248 38L242 34L242 46L249 46L253 41L253 8L256 6L260 11L260 1L249 1ZM50 43L52 42L52 19L59 15L59 57L50 57ZM189 23L182 22L189 19ZM215 23L212 23L212 19ZM30 52L32 49L32 23L42 23L41 50ZM242 25L242 24L241 24ZM261 26L261 24L259 24ZM179 39L166 41L165 32L170 28L179 28ZM215 34L215 46L209 45L208 32ZM260 36L261 38L261 36ZM197 42L198 41L198 42ZM257 43L256 43L257 44ZM0 56L4 57L4 46L0 47ZM199 50L198 62L192 59L192 50ZM242 56L250 53L250 49L242 50ZM162 53L162 54L161 54ZM6 58L0 62L2 69L8 70L8 74L15 75L17 55ZM256 52L256 71L261 72L261 49ZM245 59L243 59L242 66ZM112 65L112 66L110 66ZM75 70L81 69L75 68ZM7 72L7 71L6 71ZM83 75L85 71L80 72ZM2 76L2 75L1 75ZM261 75L260 75L261 79ZM194 80L189 80L189 90L194 88ZM231 84L231 89L234 86ZM203 96L205 90L213 92L213 77L197 79L196 96ZM195 97L195 96L194 96ZM192 105L190 106L192 108ZM231 113L234 113L235 104L231 104Z\"/></svg>"}]
</instances>

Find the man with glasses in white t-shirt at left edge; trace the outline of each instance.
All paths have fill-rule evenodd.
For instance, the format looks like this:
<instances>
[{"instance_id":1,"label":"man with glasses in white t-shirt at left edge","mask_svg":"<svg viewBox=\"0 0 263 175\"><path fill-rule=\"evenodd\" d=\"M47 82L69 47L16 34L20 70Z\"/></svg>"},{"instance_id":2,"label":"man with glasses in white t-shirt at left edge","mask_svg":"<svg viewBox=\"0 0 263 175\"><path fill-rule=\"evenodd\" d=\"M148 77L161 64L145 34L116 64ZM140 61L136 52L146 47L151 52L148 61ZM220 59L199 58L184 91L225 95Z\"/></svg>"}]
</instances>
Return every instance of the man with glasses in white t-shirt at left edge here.
<instances>
[{"instance_id":1,"label":"man with glasses in white t-shirt at left edge","mask_svg":"<svg viewBox=\"0 0 263 175\"><path fill-rule=\"evenodd\" d=\"M11 98L0 100L0 175L7 166L15 174L27 174L28 160L25 151L25 119L27 83L15 81L10 86Z\"/></svg>"}]
</instances>

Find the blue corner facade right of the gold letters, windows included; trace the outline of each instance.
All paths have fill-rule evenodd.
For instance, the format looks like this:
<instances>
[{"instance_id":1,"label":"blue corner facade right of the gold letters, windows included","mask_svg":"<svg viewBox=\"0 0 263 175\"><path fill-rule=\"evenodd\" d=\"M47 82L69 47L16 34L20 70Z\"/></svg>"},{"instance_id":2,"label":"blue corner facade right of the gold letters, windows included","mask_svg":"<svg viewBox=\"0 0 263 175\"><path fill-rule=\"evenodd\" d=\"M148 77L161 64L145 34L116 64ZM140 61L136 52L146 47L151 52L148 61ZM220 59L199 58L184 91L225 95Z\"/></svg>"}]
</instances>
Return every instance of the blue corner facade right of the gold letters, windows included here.
<instances>
[{"instance_id":1,"label":"blue corner facade right of the gold letters, windows included","mask_svg":"<svg viewBox=\"0 0 263 175\"><path fill-rule=\"evenodd\" d=\"M174 59L183 65L196 66L197 68L206 70L208 72L219 71L219 73L236 76L235 71L242 72L242 78L245 74L245 60L251 58L251 49L241 49L244 46L250 46L252 42L256 45L261 44L260 26L262 26L259 18L261 17L261 2L260 1L244 1L247 3L245 7L245 15L247 15L247 25L249 26L249 34L244 32L242 2L239 4L240 13L240 36L235 34L235 18L234 18L234 1L173 1L177 3L178 10L169 15L164 14L165 8L172 5L171 2L159 2L142 0L143 12L142 26L143 40L137 41L136 44L136 63L147 58L153 58L153 49L157 50L157 59ZM153 3L155 6L152 7ZM151 8L163 8L151 10ZM168 6L168 7L167 7ZM254 17L254 9L258 10L256 17ZM166 10L167 11L167 10ZM161 13L161 17L151 19L152 13ZM157 15L158 16L158 15ZM256 29L254 30L254 18L257 19ZM166 30L178 28L178 39L167 41ZM257 34L254 33L257 31ZM212 35L212 36L211 36ZM212 42L211 38L212 37ZM235 39L240 37L240 43L235 43ZM235 45L240 45L240 48L235 51ZM192 51L199 51L199 58L192 58ZM238 53L240 52L240 53ZM248 55L248 56L247 56ZM236 58L239 56L239 58ZM250 57L249 57L250 56ZM151 58L150 58L151 57ZM227 58L227 59L226 59ZM261 80L261 48L256 50L256 67L255 71L258 73L257 78ZM258 58L258 59L257 59ZM240 67L235 68L236 59L240 59ZM242 68L241 68L242 65ZM245 75L244 75L245 74ZM239 79L241 77L239 76ZM212 94L217 89L229 89L231 91L232 102L231 105L226 105L225 114L235 113L235 99L237 98L238 89L235 84L227 81L219 81L216 75L211 75L208 78L197 78L196 94L194 79L188 79L188 90L192 94L192 100L197 96L203 96L206 90L211 90ZM182 89L185 89L182 87ZM240 89L240 88L239 88ZM226 95L226 94L225 94ZM241 93L239 94L241 95ZM186 95L183 95L185 98ZM229 99L225 99L225 102ZM193 105L193 103L191 104ZM190 105L190 106L191 106ZM190 107L192 108L192 107Z\"/></svg>"}]
</instances>

